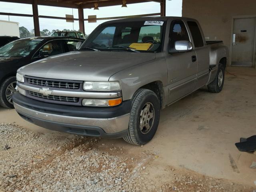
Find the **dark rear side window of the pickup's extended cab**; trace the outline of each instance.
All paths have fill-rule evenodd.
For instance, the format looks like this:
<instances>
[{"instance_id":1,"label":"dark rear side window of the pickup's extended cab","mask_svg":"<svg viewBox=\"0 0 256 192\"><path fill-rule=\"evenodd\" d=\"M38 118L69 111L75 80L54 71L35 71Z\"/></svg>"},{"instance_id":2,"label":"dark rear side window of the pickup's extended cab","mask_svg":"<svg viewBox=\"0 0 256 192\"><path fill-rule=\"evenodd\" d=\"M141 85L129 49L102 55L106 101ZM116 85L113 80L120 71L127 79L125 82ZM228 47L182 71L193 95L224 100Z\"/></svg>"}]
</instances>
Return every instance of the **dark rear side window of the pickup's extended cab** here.
<instances>
[{"instance_id":1,"label":"dark rear side window of the pickup's extended cab","mask_svg":"<svg viewBox=\"0 0 256 192\"><path fill-rule=\"evenodd\" d=\"M196 24L196 22L188 21L188 27L190 29L195 47L204 46L202 34L201 34L200 29L199 29L198 25Z\"/></svg>"}]
</instances>

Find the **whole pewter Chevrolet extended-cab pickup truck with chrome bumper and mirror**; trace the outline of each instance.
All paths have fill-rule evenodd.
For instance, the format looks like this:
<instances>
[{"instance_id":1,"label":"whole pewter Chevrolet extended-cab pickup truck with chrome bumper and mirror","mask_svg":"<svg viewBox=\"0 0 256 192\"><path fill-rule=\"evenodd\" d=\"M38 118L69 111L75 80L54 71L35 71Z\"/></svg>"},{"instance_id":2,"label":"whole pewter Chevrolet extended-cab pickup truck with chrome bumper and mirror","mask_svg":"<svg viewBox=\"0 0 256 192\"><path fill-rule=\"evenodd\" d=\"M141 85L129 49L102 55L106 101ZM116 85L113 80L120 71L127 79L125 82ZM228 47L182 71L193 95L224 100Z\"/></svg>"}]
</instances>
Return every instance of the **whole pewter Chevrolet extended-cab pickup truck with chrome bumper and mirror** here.
<instances>
[{"instance_id":1,"label":"whole pewter Chevrolet extended-cab pickup truck with chrome bumper and mirror","mask_svg":"<svg viewBox=\"0 0 256 192\"><path fill-rule=\"evenodd\" d=\"M160 109L208 86L222 90L228 49L198 22L144 17L100 24L77 51L20 68L14 107L44 128L141 145Z\"/></svg>"}]
</instances>

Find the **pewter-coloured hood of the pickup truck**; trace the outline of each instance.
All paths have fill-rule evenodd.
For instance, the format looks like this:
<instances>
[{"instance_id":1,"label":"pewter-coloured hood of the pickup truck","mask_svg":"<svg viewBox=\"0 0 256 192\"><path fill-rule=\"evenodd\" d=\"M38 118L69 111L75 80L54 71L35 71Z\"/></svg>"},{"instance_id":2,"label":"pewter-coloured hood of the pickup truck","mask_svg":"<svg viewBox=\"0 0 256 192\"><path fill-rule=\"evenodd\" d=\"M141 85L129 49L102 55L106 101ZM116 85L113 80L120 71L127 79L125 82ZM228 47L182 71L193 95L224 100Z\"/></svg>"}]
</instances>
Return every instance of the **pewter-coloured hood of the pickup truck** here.
<instances>
[{"instance_id":1,"label":"pewter-coloured hood of the pickup truck","mask_svg":"<svg viewBox=\"0 0 256 192\"><path fill-rule=\"evenodd\" d=\"M108 81L116 72L153 59L154 53L74 51L28 64L19 73L41 78Z\"/></svg>"}]
</instances>

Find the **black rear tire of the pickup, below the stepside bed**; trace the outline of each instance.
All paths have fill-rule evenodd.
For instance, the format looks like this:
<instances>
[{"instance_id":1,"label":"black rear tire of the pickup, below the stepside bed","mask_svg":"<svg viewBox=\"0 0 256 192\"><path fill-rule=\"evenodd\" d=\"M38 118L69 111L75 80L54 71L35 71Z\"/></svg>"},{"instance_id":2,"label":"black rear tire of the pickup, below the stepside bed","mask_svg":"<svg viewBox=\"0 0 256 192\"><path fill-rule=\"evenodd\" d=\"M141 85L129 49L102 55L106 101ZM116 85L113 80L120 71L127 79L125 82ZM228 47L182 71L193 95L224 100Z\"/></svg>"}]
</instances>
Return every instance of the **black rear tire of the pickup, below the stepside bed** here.
<instances>
[{"instance_id":1,"label":"black rear tire of the pickup, below the stepside bed","mask_svg":"<svg viewBox=\"0 0 256 192\"><path fill-rule=\"evenodd\" d=\"M220 83L220 75L222 74L222 81ZM216 74L216 77L214 78L213 82L208 84L208 91L211 93L219 93L221 92L224 84L224 77L225 77L225 68L220 63L218 67L218 72Z\"/></svg>"}]
</instances>

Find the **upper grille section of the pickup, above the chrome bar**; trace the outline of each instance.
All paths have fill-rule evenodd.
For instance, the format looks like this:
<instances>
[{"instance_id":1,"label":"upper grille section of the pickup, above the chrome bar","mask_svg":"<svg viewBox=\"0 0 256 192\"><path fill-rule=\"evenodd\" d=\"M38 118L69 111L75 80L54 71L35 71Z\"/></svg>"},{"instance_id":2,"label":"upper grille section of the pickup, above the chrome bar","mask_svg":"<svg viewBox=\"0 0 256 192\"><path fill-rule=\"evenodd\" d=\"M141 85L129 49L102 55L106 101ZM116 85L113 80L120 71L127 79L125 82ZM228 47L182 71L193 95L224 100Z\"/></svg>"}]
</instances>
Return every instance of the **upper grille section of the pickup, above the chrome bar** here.
<instances>
[{"instance_id":1,"label":"upper grille section of the pickup, above the chrome bar","mask_svg":"<svg viewBox=\"0 0 256 192\"><path fill-rule=\"evenodd\" d=\"M48 86L54 88L64 89L79 89L80 83L78 82L62 82L60 80L42 80L36 78L28 78L28 83L39 86Z\"/></svg>"}]
</instances>

